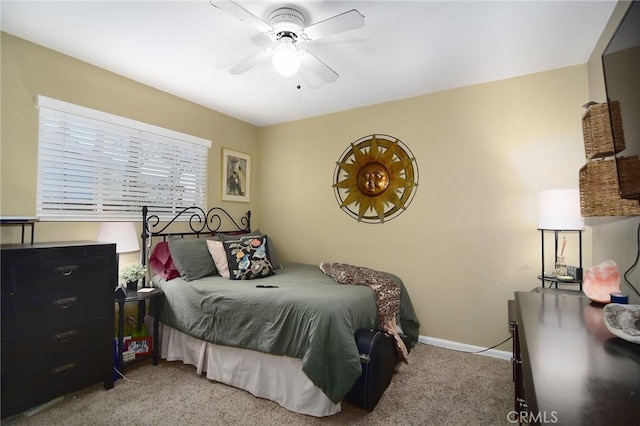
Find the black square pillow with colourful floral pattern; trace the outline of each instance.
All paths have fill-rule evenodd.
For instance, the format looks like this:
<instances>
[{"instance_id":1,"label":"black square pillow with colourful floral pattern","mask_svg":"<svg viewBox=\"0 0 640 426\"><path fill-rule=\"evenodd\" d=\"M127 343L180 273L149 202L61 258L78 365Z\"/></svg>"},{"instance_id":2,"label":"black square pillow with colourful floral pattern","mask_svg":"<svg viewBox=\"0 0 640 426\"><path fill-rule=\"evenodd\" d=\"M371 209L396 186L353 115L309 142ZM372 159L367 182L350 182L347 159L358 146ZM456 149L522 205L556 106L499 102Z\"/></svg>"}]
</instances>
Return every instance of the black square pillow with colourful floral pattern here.
<instances>
[{"instance_id":1,"label":"black square pillow with colourful floral pattern","mask_svg":"<svg viewBox=\"0 0 640 426\"><path fill-rule=\"evenodd\" d=\"M274 275L269 258L268 238L264 235L236 241L223 241L232 280L252 280Z\"/></svg>"}]
</instances>

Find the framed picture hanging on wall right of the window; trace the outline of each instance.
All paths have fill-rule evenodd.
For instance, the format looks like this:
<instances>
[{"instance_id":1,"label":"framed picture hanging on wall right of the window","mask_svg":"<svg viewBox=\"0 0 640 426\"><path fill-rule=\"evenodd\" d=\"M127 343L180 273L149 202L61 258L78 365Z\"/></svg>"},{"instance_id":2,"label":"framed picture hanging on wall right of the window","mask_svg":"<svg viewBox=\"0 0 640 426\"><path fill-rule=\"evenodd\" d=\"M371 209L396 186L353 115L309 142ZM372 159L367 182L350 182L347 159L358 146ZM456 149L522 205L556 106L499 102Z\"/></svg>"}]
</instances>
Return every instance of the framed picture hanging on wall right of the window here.
<instances>
[{"instance_id":1,"label":"framed picture hanging on wall right of the window","mask_svg":"<svg viewBox=\"0 0 640 426\"><path fill-rule=\"evenodd\" d=\"M251 200L251 155L222 148L221 186L223 201Z\"/></svg>"}]
</instances>

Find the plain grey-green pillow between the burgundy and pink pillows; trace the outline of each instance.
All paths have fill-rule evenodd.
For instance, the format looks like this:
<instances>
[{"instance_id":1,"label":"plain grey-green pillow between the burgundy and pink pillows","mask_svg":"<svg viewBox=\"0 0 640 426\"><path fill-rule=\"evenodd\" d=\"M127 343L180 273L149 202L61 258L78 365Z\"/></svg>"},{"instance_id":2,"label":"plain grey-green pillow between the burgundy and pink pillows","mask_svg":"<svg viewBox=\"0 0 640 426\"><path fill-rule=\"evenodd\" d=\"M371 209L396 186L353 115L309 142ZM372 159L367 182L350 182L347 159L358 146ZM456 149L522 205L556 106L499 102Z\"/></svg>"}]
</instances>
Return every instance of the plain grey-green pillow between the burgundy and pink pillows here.
<instances>
[{"instance_id":1,"label":"plain grey-green pillow between the burgundy and pink pillows","mask_svg":"<svg viewBox=\"0 0 640 426\"><path fill-rule=\"evenodd\" d=\"M169 251L185 281L193 281L216 273L216 265L209 254L204 238L171 238Z\"/></svg>"}]
</instances>

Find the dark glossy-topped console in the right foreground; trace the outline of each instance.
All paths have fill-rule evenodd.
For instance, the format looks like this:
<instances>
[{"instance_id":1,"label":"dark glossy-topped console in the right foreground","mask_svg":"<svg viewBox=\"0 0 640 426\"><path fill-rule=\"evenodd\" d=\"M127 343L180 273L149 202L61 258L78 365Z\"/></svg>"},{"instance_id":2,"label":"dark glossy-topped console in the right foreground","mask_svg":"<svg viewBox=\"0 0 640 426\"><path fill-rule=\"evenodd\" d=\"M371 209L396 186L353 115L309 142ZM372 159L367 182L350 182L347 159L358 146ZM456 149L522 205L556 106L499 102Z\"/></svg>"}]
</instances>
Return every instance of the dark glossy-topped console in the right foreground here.
<instances>
[{"instance_id":1,"label":"dark glossy-topped console in the right foreground","mask_svg":"<svg viewBox=\"0 0 640 426\"><path fill-rule=\"evenodd\" d=\"M639 424L640 345L611 334L602 305L581 293L538 291L517 292L509 303L520 420Z\"/></svg>"}]
</instances>

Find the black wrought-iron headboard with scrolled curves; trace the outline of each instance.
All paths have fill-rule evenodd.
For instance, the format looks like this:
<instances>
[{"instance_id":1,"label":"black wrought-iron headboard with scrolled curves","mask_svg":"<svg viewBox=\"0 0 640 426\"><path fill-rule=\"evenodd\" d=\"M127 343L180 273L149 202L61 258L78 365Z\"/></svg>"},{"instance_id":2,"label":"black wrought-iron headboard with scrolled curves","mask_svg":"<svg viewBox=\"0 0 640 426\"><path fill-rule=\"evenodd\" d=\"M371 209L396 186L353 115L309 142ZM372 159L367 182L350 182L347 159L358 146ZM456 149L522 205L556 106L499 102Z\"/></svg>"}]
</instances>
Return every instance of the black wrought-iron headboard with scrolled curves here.
<instances>
[{"instance_id":1,"label":"black wrought-iron headboard with scrolled curves","mask_svg":"<svg viewBox=\"0 0 640 426\"><path fill-rule=\"evenodd\" d=\"M188 220L186 220L187 218ZM175 222L186 222L189 225L189 230L172 231L170 228L177 227L174 225ZM231 229L221 229L223 226L231 226ZM251 232L251 210L247 211L247 214L237 222L222 207L212 207L205 211L200 207L192 206L182 209L173 218L164 221L160 219L158 214L150 214L149 208L144 206L142 207L142 234L140 235L142 238L141 263L142 265L147 264L154 237L160 237L166 241L170 236L192 235L199 238L201 235L211 236L214 232L217 234Z\"/></svg>"}]
</instances>

